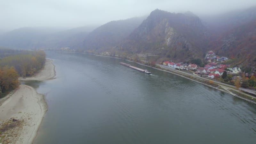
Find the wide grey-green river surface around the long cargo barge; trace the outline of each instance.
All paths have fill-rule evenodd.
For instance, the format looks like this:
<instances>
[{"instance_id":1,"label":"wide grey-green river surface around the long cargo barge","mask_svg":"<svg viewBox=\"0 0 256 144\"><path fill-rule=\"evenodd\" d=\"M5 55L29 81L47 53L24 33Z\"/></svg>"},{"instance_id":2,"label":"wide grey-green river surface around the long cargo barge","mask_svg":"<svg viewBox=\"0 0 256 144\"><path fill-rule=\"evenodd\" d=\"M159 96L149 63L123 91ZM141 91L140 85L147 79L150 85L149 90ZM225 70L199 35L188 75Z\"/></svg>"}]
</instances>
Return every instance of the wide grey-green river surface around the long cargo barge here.
<instances>
[{"instance_id":1,"label":"wide grey-green river surface around the long cargo barge","mask_svg":"<svg viewBox=\"0 0 256 144\"><path fill-rule=\"evenodd\" d=\"M256 106L124 60L47 52L56 79L28 82L48 111L35 144L255 143Z\"/></svg>"}]
</instances>

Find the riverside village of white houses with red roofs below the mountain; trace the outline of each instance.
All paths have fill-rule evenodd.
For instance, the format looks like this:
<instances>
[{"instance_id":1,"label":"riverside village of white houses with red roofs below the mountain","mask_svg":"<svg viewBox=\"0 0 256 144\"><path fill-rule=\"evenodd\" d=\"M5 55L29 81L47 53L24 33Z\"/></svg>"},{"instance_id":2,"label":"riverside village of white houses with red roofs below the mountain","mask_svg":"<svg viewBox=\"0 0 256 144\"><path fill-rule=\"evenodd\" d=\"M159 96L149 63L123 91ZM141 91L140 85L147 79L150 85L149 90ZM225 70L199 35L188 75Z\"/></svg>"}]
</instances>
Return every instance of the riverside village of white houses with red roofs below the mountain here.
<instances>
[{"instance_id":1,"label":"riverside village of white houses with red roofs below the mountain","mask_svg":"<svg viewBox=\"0 0 256 144\"><path fill-rule=\"evenodd\" d=\"M239 67L229 68L230 65L224 65L222 62L228 60L226 57L215 56L214 52L209 51L205 55L205 60L208 62L204 67L198 67L196 64L187 64L187 63L174 63L172 61L164 61L163 65L168 66L174 69L188 70L193 71L193 74L198 76L208 77L210 79L219 79L224 71L226 74L232 76L232 79L235 79L241 73ZM238 76L240 78L240 76Z\"/></svg>"}]
</instances>

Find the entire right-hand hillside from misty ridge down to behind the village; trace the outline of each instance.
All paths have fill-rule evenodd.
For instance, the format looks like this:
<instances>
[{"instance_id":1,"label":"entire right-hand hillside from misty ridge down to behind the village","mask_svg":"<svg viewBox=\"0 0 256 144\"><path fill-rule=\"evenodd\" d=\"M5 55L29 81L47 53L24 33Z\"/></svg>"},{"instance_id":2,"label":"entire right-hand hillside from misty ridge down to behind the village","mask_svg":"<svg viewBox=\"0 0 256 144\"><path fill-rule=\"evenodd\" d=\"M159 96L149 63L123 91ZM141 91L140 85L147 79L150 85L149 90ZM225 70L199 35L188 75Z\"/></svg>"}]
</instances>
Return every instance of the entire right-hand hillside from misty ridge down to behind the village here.
<instances>
[{"instance_id":1,"label":"entire right-hand hillside from misty ridge down to behind the village","mask_svg":"<svg viewBox=\"0 0 256 144\"><path fill-rule=\"evenodd\" d=\"M231 58L232 65L256 66L256 7L203 18L211 33L208 50Z\"/></svg>"}]
</instances>

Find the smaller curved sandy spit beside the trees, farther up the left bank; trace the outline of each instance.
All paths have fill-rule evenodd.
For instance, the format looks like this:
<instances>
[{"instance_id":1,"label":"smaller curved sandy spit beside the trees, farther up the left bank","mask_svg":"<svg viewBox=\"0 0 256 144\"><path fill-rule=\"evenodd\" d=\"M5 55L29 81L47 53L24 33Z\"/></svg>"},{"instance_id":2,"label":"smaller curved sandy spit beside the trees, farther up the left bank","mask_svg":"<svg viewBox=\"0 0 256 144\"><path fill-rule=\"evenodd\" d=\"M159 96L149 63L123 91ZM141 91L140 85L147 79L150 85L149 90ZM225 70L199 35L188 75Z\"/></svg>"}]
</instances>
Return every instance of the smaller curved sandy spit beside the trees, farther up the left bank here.
<instances>
[{"instance_id":1,"label":"smaller curved sandy spit beside the trees, farther up the left bank","mask_svg":"<svg viewBox=\"0 0 256 144\"><path fill-rule=\"evenodd\" d=\"M44 69L36 73L35 76L22 78L20 77L19 80L22 81L30 81L30 80L37 80L37 81L45 81L53 79L55 76L55 66L53 65L52 60L46 59Z\"/></svg>"}]
</instances>

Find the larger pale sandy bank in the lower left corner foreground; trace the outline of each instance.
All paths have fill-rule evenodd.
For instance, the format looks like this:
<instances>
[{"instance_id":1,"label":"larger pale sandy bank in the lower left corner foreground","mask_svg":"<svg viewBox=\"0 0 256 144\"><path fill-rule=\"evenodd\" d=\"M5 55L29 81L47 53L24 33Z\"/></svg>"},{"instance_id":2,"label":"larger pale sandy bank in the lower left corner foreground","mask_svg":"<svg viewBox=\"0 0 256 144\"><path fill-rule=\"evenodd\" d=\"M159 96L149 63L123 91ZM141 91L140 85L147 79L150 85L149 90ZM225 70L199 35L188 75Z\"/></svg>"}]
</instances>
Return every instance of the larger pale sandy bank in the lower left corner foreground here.
<instances>
[{"instance_id":1,"label":"larger pale sandy bank in the lower left corner foreground","mask_svg":"<svg viewBox=\"0 0 256 144\"><path fill-rule=\"evenodd\" d=\"M44 95L38 94L30 86L20 85L0 106L1 121L9 120L12 117L20 121L20 124L14 127L18 132L16 131L14 132L16 134L13 134L13 131L10 129L6 131L5 137L9 137L12 143L32 143L46 109ZM4 143L4 140L1 142Z\"/></svg>"}]
</instances>

